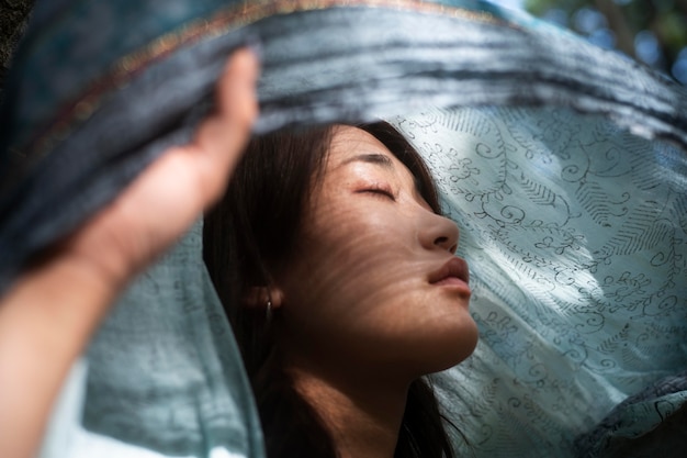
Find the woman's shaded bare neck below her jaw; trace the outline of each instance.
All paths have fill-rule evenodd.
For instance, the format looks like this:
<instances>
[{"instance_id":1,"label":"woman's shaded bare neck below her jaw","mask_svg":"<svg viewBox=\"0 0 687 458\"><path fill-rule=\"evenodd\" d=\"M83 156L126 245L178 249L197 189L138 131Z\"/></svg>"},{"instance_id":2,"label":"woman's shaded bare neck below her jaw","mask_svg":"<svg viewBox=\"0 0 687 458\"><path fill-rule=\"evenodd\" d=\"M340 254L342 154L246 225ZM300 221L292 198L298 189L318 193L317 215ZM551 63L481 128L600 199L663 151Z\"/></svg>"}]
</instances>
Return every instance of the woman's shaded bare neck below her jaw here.
<instances>
[{"instance_id":1,"label":"woman's shaded bare neck below her jaw","mask_svg":"<svg viewBox=\"0 0 687 458\"><path fill-rule=\"evenodd\" d=\"M324 421L340 458L394 456L407 383L362 378L341 382L297 369L292 376L295 389Z\"/></svg>"}]
</instances>

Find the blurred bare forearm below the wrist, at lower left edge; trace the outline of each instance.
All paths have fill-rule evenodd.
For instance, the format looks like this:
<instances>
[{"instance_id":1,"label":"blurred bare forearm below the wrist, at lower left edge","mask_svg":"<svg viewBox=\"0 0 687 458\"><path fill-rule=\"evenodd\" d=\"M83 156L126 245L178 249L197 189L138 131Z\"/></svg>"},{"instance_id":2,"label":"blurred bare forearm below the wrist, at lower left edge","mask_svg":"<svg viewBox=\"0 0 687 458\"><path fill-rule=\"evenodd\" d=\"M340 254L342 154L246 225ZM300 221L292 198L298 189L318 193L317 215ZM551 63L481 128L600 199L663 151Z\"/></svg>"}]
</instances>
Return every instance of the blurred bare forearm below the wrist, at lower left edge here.
<instances>
[{"instance_id":1,"label":"blurred bare forearm below the wrist, at lower left edge","mask_svg":"<svg viewBox=\"0 0 687 458\"><path fill-rule=\"evenodd\" d=\"M74 259L56 258L26 272L0 300L0 450L37 451L46 421L116 286Z\"/></svg>"}]
</instances>

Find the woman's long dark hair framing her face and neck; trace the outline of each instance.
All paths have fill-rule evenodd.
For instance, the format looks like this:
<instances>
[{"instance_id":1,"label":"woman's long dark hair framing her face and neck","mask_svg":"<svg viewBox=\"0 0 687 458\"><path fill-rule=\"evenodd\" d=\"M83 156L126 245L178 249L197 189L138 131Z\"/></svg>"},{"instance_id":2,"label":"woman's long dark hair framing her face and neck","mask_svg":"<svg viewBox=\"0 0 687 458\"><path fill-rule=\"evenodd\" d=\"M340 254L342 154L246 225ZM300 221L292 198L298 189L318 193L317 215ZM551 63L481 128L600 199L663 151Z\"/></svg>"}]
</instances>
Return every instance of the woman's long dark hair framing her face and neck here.
<instances>
[{"instance_id":1,"label":"woman's long dark hair framing her face and neck","mask_svg":"<svg viewBox=\"0 0 687 458\"><path fill-rule=\"evenodd\" d=\"M410 170L420 194L440 213L431 175L408 142L387 123L359 127ZM225 197L205 217L203 255L236 333L270 458L337 456L319 415L280 365L264 309L241 306L255 287L271 283L270 271L293 254L309 191L324 174L331 132L323 126L254 138ZM453 457L443 421L432 389L424 379L415 380L395 457Z\"/></svg>"}]
</instances>

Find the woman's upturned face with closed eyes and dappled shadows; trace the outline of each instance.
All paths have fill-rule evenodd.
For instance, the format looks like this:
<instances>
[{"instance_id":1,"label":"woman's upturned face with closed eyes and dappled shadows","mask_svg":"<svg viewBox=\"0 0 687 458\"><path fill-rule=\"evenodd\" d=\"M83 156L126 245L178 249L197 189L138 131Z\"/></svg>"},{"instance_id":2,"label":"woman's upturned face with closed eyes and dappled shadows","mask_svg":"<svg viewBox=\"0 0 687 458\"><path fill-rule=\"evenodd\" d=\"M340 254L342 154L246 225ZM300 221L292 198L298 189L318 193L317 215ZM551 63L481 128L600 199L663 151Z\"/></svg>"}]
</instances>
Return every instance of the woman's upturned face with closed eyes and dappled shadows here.
<instances>
[{"instance_id":1,"label":"woman's upturned face with closed eyes and dappled shadows","mask_svg":"<svg viewBox=\"0 0 687 458\"><path fill-rule=\"evenodd\" d=\"M416 378L460 362L477 329L458 235L382 143L335 127L297 249L277 276L278 345L292 364L320 370Z\"/></svg>"}]
</instances>

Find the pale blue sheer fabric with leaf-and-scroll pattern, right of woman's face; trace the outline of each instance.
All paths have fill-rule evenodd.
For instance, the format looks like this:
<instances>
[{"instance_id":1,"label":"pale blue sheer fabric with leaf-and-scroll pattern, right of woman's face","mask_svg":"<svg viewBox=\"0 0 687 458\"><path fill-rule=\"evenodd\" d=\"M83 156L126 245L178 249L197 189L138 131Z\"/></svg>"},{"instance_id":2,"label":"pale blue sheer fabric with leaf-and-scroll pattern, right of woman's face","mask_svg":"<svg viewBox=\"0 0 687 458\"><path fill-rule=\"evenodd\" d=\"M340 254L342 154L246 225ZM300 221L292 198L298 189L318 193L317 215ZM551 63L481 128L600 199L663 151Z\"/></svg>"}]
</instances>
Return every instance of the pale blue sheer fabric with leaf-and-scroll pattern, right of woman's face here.
<instances>
[{"instance_id":1,"label":"pale blue sheer fabric with leaf-and-scroll pattern, right of woman's face","mask_svg":"<svg viewBox=\"0 0 687 458\"><path fill-rule=\"evenodd\" d=\"M395 124L471 266L481 342L437 378L451 417L478 456L570 456L574 440L597 456L606 437L582 437L590 425L687 367L685 153L563 109L428 109ZM683 390L631 406L624 434L656 426Z\"/></svg>"}]
</instances>

